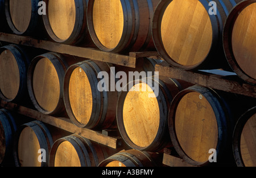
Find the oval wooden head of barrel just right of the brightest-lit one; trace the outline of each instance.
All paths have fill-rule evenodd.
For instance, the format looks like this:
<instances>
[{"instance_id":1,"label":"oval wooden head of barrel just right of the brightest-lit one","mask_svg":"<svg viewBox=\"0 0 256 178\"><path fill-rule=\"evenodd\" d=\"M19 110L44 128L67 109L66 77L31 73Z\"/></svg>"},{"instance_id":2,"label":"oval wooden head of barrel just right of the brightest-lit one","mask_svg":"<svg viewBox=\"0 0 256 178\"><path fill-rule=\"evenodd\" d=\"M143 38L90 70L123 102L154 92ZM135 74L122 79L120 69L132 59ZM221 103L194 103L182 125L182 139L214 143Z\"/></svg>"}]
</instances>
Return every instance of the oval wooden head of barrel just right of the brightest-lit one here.
<instances>
[{"instance_id":1,"label":"oval wooden head of barrel just right of the brightest-lit one","mask_svg":"<svg viewBox=\"0 0 256 178\"><path fill-rule=\"evenodd\" d=\"M208 100L198 92L184 95L175 114L177 140L191 159L207 162L209 150L216 149L218 126Z\"/></svg>"}]
</instances>

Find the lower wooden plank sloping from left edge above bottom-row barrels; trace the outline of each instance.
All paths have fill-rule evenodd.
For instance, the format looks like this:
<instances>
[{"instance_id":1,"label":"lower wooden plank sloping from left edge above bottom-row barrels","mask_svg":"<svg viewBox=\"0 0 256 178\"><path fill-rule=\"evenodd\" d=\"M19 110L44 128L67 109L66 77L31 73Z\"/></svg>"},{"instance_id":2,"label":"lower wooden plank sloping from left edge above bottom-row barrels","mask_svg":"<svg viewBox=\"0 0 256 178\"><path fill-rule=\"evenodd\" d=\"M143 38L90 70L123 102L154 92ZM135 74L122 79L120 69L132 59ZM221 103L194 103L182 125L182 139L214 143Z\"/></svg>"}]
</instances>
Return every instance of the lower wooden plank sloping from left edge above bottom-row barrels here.
<instances>
[{"instance_id":1,"label":"lower wooden plank sloping from left edge above bottom-row barrels","mask_svg":"<svg viewBox=\"0 0 256 178\"><path fill-rule=\"evenodd\" d=\"M46 124L56 126L57 128L66 130L68 132L81 135L82 137L88 138L92 141L96 141L98 143L101 143L102 145L112 147L113 149L117 149L118 147L121 146L121 139L108 137L104 134L86 128L78 128L68 118L52 117L44 115L43 113L40 113L38 111L34 111L33 109L23 107L18 104L9 103L1 99L0 101L0 107L8 109L9 111L13 111L27 117L31 117L35 120L39 120Z\"/></svg>"}]
</instances>

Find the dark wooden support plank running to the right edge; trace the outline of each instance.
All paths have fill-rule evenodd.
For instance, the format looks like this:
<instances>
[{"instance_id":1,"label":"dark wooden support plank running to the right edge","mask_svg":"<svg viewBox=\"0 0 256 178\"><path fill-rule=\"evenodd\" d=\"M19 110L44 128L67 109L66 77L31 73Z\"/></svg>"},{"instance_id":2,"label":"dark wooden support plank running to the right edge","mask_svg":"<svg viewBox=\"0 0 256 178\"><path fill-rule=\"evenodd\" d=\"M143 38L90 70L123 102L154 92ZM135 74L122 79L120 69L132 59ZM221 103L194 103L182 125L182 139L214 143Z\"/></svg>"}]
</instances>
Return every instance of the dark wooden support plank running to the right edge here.
<instances>
[{"instance_id":1,"label":"dark wooden support plank running to the right edge","mask_svg":"<svg viewBox=\"0 0 256 178\"><path fill-rule=\"evenodd\" d=\"M179 70L170 67L166 62L156 65L155 71L158 71L160 76L185 80L192 84L256 98L256 86L244 82L237 75L224 76L201 71Z\"/></svg>"}]
</instances>

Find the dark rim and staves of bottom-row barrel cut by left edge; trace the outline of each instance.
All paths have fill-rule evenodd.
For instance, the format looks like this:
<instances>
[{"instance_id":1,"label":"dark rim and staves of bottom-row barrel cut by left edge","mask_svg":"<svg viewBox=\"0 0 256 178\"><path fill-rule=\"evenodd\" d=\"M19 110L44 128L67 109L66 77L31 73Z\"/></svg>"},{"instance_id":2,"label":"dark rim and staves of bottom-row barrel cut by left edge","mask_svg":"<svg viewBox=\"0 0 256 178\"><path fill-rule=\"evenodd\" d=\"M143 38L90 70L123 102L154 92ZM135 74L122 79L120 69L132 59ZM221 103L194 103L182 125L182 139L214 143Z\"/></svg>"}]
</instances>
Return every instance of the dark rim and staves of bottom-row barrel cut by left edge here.
<instances>
[{"instance_id":1,"label":"dark rim and staves of bottom-row barrel cut by left edge","mask_svg":"<svg viewBox=\"0 0 256 178\"><path fill-rule=\"evenodd\" d=\"M6 151L5 155L2 157L2 162L0 162L1 166L13 164L13 154L12 154L12 148L13 148L13 140L14 140L14 134L17 130L16 122L14 121L13 116L9 111L6 109L0 109L0 115L3 117L0 117L0 120L2 122L3 128L5 129L5 138L6 138Z\"/></svg>"}]
</instances>

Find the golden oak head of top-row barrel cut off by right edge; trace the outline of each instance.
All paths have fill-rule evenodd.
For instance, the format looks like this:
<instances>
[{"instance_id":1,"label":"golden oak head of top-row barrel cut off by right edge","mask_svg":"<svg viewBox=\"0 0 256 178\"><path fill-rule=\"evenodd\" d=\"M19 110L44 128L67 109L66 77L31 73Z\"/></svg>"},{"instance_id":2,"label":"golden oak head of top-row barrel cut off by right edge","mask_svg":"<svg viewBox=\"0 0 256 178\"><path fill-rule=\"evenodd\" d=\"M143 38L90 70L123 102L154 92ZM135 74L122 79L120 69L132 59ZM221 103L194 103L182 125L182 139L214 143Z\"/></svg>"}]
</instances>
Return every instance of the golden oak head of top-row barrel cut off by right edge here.
<instances>
[{"instance_id":1,"label":"golden oak head of top-row barrel cut off by right edge","mask_svg":"<svg viewBox=\"0 0 256 178\"><path fill-rule=\"evenodd\" d=\"M256 3L245 7L234 23L232 48L238 66L247 75L256 79Z\"/></svg>"}]
</instances>

